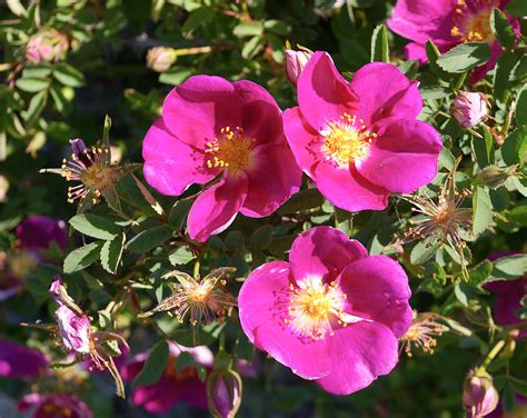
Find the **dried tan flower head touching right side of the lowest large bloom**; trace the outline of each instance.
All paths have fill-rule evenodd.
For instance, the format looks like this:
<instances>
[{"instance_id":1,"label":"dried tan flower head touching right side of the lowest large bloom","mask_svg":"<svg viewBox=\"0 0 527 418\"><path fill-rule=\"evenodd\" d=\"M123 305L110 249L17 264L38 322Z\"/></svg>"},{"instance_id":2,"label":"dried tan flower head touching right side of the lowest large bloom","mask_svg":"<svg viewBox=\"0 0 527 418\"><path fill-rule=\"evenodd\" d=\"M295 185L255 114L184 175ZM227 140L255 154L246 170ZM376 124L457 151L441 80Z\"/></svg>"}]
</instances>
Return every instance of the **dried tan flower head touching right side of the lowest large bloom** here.
<instances>
[{"instance_id":1,"label":"dried tan flower head touching right side of the lowest large bloom","mask_svg":"<svg viewBox=\"0 0 527 418\"><path fill-rule=\"evenodd\" d=\"M400 350L405 350L411 357L411 347L420 349L422 352L432 355L437 345L435 337L440 337L448 331L448 327L437 322L443 317L438 314L414 311L414 320L410 329L400 339Z\"/></svg>"}]
</instances>

